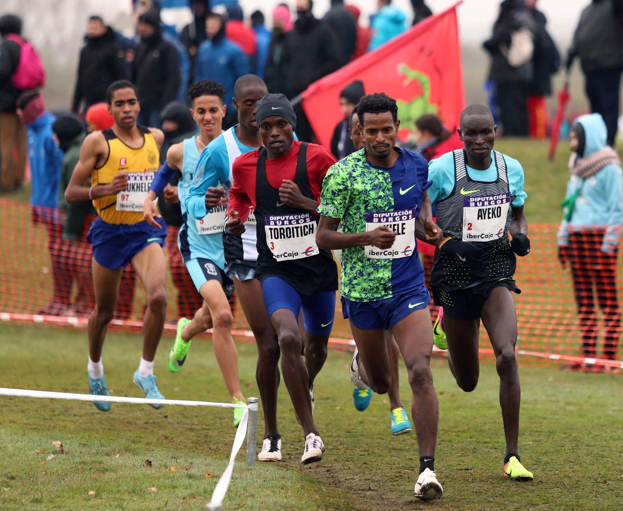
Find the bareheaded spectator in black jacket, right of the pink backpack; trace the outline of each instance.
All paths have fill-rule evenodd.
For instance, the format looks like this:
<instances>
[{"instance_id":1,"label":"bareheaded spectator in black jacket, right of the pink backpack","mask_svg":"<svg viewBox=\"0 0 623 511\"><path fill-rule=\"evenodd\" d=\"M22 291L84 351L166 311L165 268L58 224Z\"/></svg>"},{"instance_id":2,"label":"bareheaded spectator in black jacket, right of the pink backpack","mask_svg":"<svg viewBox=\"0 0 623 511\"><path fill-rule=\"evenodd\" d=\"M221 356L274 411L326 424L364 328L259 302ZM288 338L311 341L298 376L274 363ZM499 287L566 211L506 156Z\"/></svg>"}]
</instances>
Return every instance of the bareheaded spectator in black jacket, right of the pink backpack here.
<instances>
[{"instance_id":1,"label":"bareheaded spectator in black jacket, right of the pink backpack","mask_svg":"<svg viewBox=\"0 0 623 511\"><path fill-rule=\"evenodd\" d=\"M95 103L106 101L108 85L126 79L125 52L117 42L112 28L100 16L88 19L85 45L80 50L78 74L72 110L78 112L84 101L83 112Z\"/></svg>"}]
</instances>

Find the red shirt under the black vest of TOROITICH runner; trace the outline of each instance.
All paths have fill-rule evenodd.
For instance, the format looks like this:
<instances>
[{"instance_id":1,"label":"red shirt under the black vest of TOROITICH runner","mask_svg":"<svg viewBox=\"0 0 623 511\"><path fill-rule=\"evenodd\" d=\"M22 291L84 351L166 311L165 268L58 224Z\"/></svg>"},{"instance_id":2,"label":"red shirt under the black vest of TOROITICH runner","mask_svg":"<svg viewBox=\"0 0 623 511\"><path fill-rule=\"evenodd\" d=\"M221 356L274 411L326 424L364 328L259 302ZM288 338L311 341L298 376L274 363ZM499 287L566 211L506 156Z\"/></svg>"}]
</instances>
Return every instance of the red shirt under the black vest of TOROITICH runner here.
<instances>
[{"instance_id":1,"label":"red shirt under the black vest of TOROITICH runner","mask_svg":"<svg viewBox=\"0 0 623 511\"><path fill-rule=\"evenodd\" d=\"M301 146L300 141L295 140L290 150L281 158L266 160L266 176L270 186L279 189L283 179L294 180L297 171L298 150ZM229 190L229 209L228 211L238 212L240 220L246 221L251 209L255 209L257 198L255 197L255 174L257 170L257 160L260 150L256 149L250 153L238 156L232 166L232 176L234 186ZM312 189L313 196L320 204L320 192L322 191L322 181L325 179L326 171L336 163L335 156L331 151L323 146L309 144L307 146L307 175Z\"/></svg>"}]
</instances>

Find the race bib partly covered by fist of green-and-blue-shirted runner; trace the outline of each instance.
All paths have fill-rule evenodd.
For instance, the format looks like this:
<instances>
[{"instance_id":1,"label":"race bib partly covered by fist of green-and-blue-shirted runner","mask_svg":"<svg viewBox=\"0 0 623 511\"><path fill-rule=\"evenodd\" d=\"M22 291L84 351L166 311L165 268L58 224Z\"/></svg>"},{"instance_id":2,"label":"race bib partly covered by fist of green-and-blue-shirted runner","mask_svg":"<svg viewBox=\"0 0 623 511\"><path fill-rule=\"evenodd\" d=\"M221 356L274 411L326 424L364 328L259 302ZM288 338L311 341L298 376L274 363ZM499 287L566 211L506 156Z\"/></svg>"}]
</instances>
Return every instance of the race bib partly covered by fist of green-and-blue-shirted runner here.
<instances>
[{"instance_id":1,"label":"race bib partly covered by fist of green-and-blue-shirted runner","mask_svg":"<svg viewBox=\"0 0 623 511\"><path fill-rule=\"evenodd\" d=\"M388 226L396 232L394 244L389 249L379 249L373 245L366 245L366 257L370 259L411 257L416 249L416 209L366 213L366 232L374 231L380 226Z\"/></svg>"}]
</instances>

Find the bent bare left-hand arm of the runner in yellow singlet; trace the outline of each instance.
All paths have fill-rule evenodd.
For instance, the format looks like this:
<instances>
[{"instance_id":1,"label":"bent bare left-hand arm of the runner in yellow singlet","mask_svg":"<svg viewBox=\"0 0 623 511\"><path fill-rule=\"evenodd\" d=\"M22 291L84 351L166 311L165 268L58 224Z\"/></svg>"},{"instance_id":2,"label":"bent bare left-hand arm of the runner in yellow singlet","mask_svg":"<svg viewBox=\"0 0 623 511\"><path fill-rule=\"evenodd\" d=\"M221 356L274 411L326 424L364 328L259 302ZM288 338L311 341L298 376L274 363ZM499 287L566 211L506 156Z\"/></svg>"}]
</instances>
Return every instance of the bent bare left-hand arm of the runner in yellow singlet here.
<instances>
[{"instance_id":1,"label":"bent bare left-hand arm of the runner in yellow singlet","mask_svg":"<svg viewBox=\"0 0 623 511\"><path fill-rule=\"evenodd\" d=\"M91 171L97 165L97 160L102 154L105 140L101 131L95 131L85 138L80 149L80 159L74 168L72 178L65 190L65 200L68 203L81 203L90 201L89 191L91 188L84 186ZM120 172L112 183L100 184L92 187L92 198L98 199L107 195L113 195L125 190L128 186L128 173Z\"/></svg>"}]
</instances>

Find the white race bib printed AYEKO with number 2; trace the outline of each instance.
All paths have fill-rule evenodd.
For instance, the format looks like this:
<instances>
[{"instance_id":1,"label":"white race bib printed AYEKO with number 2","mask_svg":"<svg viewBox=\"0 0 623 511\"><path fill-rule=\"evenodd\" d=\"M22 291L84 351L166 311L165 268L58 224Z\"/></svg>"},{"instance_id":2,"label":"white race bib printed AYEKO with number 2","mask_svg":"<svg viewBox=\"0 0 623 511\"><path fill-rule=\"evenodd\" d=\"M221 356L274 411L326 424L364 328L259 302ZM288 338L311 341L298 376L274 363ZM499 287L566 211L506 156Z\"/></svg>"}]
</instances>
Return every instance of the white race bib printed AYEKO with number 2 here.
<instances>
[{"instance_id":1,"label":"white race bib printed AYEKO with number 2","mask_svg":"<svg viewBox=\"0 0 623 511\"><path fill-rule=\"evenodd\" d=\"M504 234L510 193L466 197L463 202L463 241L491 241Z\"/></svg>"}]
</instances>

